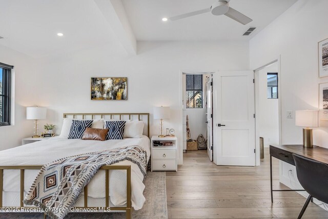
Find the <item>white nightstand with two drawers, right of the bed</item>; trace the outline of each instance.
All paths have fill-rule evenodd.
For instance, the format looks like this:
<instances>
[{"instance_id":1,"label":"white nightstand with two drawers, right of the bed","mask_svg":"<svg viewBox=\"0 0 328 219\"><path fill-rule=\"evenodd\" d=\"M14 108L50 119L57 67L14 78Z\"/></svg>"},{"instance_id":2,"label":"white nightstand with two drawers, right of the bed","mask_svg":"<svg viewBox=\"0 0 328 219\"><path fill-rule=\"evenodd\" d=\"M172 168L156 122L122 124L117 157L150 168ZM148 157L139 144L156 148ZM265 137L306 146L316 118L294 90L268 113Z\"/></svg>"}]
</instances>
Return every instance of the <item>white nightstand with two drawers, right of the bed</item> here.
<instances>
[{"instance_id":1,"label":"white nightstand with two drawers, right of the bed","mask_svg":"<svg viewBox=\"0 0 328 219\"><path fill-rule=\"evenodd\" d=\"M172 146L154 146L154 141L163 142L172 142ZM177 148L178 141L177 138L168 136L168 137L158 137L153 135L151 139L151 162L152 162L152 171L178 171L177 164Z\"/></svg>"}]
</instances>

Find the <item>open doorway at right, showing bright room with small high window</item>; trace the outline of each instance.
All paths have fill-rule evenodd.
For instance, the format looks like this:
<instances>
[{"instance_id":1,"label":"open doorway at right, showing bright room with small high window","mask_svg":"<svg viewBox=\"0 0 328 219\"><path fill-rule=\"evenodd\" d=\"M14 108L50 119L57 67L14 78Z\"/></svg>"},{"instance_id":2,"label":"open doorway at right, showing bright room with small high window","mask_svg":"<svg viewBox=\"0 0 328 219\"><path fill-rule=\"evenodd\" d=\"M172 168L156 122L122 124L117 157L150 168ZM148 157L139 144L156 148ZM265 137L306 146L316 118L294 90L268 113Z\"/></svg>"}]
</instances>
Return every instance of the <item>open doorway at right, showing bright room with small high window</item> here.
<instances>
[{"instance_id":1,"label":"open doorway at right, showing bright room with small high window","mask_svg":"<svg viewBox=\"0 0 328 219\"><path fill-rule=\"evenodd\" d=\"M255 140L257 165L264 158L262 152L270 145L281 143L280 73L278 59L254 70L255 77ZM263 146L261 146L263 144ZM264 147L264 148L263 148Z\"/></svg>"}]
</instances>

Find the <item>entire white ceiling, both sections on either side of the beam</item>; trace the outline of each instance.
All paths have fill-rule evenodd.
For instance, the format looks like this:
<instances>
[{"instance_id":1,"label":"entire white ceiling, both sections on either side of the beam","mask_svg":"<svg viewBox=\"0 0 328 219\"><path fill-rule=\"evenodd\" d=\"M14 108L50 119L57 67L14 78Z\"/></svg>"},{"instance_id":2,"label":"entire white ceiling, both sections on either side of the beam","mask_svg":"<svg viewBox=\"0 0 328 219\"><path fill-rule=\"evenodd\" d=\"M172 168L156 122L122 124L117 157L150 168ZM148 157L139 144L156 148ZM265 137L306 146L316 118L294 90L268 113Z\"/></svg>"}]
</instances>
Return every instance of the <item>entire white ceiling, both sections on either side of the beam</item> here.
<instances>
[{"instance_id":1,"label":"entire white ceiling, both sections on either side of the beam","mask_svg":"<svg viewBox=\"0 0 328 219\"><path fill-rule=\"evenodd\" d=\"M124 27L129 26L135 36L135 39L132 37L134 41L248 41L296 2L231 0L231 7L253 19L249 25L243 26L227 16L214 16L211 13L175 22L161 21L165 16L210 7L215 0L120 1L0 0L0 36L4 37L0 39L0 45L33 57L75 52L103 45L116 45L113 48L117 50L120 43L126 46L121 41L121 34L124 33ZM114 7L121 5L123 10L115 8L114 11L120 17L122 28L113 28L119 22L111 23L112 17L99 10L99 3L114 3ZM127 25L122 17L130 24ZM250 26L258 29L250 36L242 36ZM115 30L120 30L120 33ZM57 36L58 32L64 33L64 36Z\"/></svg>"}]
</instances>

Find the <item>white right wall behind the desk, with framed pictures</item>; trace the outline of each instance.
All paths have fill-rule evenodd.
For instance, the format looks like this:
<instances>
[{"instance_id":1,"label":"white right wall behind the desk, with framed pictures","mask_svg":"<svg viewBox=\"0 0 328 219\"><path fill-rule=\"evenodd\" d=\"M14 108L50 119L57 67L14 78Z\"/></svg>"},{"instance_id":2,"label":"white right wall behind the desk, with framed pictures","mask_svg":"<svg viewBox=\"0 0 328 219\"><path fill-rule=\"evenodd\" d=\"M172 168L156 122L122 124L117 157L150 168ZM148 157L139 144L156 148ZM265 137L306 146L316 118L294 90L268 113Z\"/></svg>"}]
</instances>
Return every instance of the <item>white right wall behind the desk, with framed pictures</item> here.
<instances>
[{"instance_id":1,"label":"white right wall behind the desk, with framed pictures","mask_svg":"<svg viewBox=\"0 0 328 219\"><path fill-rule=\"evenodd\" d=\"M318 42L328 37L328 1L299 0L250 41L250 67L256 69L281 55L282 144L302 144L302 127L295 126L295 110L318 109ZM293 110L293 119L286 111ZM314 130L314 144L328 148L328 128ZM280 180L290 185L288 170L295 167L283 163ZM291 174L290 174L291 175ZM293 187L292 185L290 185Z\"/></svg>"}]
</instances>

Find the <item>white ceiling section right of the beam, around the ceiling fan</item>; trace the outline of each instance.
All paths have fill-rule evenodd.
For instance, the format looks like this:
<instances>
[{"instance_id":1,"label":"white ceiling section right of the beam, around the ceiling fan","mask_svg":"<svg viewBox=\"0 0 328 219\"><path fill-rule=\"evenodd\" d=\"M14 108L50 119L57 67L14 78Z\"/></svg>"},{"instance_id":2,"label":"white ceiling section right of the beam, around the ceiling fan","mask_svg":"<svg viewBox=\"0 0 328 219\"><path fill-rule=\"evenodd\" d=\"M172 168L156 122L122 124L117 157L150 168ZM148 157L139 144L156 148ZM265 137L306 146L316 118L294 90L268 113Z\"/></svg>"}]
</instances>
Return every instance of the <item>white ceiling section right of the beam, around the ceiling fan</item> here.
<instances>
[{"instance_id":1,"label":"white ceiling section right of the beam, around the ceiling fan","mask_svg":"<svg viewBox=\"0 0 328 219\"><path fill-rule=\"evenodd\" d=\"M253 19L242 25L233 19L211 13L200 14L174 22L171 17L204 8L216 0L123 0L134 34L139 41L249 41L256 32L270 24L297 0L231 0L230 6ZM250 36L242 34L257 27Z\"/></svg>"}]
</instances>

